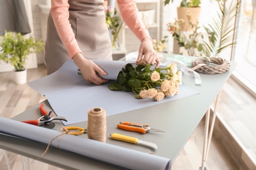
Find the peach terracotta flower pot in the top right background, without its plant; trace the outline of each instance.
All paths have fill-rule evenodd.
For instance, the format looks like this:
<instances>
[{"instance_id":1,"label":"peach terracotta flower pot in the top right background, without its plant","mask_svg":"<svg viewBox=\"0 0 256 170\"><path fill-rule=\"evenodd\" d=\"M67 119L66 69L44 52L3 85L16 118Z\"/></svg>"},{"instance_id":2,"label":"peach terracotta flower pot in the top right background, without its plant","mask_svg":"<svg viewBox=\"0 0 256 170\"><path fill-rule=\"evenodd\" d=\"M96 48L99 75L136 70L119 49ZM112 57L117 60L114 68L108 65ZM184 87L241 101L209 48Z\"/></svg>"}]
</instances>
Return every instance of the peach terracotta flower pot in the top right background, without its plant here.
<instances>
[{"instance_id":1,"label":"peach terracotta flower pot in the top right background, without its plant","mask_svg":"<svg viewBox=\"0 0 256 170\"><path fill-rule=\"evenodd\" d=\"M196 24L196 22L198 22L198 18L199 18L200 13L201 13L201 7L196 7L196 8L185 8L185 7L181 8L181 7L178 7L177 8L178 19L182 19L185 22L182 31L192 31L192 28L188 24L189 23L188 22L188 16L187 16L188 11L191 14L190 22L192 22L193 24Z\"/></svg>"}]
</instances>

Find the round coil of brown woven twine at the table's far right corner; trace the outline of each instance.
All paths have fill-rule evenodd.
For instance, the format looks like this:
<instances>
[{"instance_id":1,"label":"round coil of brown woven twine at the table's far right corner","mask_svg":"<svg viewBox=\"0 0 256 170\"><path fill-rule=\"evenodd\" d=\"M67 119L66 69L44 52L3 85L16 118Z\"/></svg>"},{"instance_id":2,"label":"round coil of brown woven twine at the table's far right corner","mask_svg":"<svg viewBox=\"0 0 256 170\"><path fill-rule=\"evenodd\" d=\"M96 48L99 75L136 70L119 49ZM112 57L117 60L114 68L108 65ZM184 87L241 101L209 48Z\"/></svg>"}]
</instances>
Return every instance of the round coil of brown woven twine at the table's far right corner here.
<instances>
[{"instance_id":1,"label":"round coil of brown woven twine at the table's far right corner","mask_svg":"<svg viewBox=\"0 0 256 170\"><path fill-rule=\"evenodd\" d=\"M192 69L200 73L220 74L229 70L230 62L223 58L198 58L192 61Z\"/></svg>"}]
</instances>

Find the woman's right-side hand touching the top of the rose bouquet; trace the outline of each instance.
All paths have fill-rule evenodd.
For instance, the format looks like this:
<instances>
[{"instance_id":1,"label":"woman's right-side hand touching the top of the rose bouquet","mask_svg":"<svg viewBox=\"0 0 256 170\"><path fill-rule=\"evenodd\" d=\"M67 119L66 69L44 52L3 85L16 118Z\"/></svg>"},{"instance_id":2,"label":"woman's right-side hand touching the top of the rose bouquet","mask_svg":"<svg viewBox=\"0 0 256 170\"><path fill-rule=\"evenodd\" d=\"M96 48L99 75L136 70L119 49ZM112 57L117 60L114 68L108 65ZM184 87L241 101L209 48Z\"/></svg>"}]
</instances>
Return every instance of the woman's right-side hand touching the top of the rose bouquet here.
<instances>
[{"instance_id":1,"label":"woman's right-side hand touching the top of the rose bouquet","mask_svg":"<svg viewBox=\"0 0 256 170\"><path fill-rule=\"evenodd\" d=\"M153 48L151 39L145 38L142 40L139 48L139 56L136 62L137 65L143 65L144 63L154 65L154 63L156 63L156 68L159 67L160 59Z\"/></svg>"}]
</instances>

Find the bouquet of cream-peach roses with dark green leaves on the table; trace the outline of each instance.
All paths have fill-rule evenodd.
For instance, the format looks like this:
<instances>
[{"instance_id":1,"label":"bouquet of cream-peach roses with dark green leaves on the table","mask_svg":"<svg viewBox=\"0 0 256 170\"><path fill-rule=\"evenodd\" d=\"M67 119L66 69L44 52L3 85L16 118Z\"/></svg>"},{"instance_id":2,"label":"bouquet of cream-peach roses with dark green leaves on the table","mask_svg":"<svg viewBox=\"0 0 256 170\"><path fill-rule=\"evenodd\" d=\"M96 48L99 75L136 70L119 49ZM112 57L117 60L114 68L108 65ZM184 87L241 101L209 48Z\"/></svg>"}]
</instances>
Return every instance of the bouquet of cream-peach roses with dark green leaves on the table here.
<instances>
[{"instance_id":1,"label":"bouquet of cream-peach roses with dark green leaves on the table","mask_svg":"<svg viewBox=\"0 0 256 170\"><path fill-rule=\"evenodd\" d=\"M128 63L119 71L117 81L111 82L108 88L133 92L138 99L150 98L156 101L179 93L182 72L177 70L176 63L168 67L150 68L150 64L133 67Z\"/></svg>"}]
</instances>

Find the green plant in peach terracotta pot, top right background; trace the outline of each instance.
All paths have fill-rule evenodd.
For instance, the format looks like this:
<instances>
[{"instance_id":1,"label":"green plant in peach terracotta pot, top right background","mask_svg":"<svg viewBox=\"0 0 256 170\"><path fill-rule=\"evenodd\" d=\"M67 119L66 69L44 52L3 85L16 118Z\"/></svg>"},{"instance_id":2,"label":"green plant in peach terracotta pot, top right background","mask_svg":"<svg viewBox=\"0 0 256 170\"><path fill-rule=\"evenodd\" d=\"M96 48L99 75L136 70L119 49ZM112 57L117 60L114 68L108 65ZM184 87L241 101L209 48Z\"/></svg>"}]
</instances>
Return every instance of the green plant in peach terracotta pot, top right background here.
<instances>
[{"instance_id":1,"label":"green plant in peach terracotta pot, top right background","mask_svg":"<svg viewBox=\"0 0 256 170\"><path fill-rule=\"evenodd\" d=\"M165 0L164 5L167 5L173 0ZM178 19L184 20L185 24L182 31L192 31L189 22L196 23L201 13L201 1L200 0L182 0L179 7L177 7ZM190 20L188 20L188 13L190 14Z\"/></svg>"}]
</instances>

